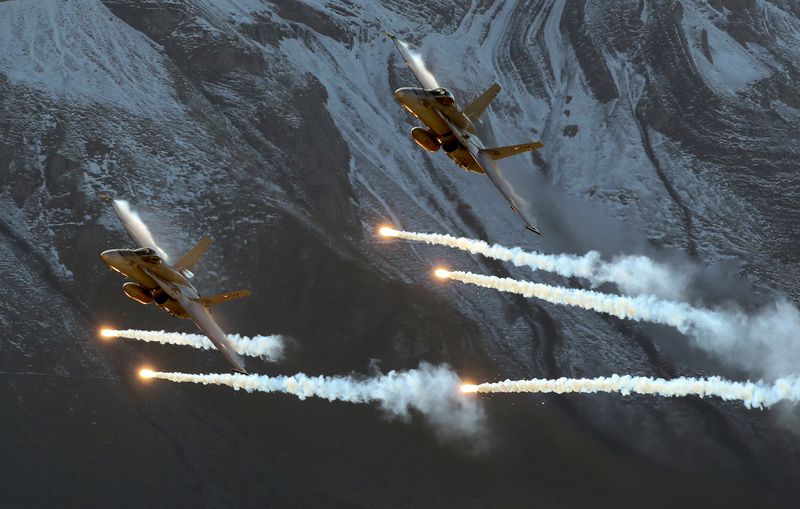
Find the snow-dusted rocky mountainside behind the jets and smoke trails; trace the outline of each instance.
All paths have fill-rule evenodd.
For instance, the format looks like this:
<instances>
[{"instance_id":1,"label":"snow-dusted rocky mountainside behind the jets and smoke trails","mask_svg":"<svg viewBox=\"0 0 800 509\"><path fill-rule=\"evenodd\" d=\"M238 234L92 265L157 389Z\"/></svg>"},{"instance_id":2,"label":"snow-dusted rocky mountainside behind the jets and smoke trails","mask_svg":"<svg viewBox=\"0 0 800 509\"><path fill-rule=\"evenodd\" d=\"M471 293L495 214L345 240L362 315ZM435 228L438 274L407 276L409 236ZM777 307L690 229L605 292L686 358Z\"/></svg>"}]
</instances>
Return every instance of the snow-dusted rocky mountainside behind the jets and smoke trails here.
<instances>
[{"instance_id":1,"label":"snow-dusted rocky mountainside behind the jets and smoke trails","mask_svg":"<svg viewBox=\"0 0 800 509\"><path fill-rule=\"evenodd\" d=\"M498 144L545 143L505 167L542 238L485 178L414 145L392 94L413 78L384 29L422 48L463 103L502 85L481 128ZM800 451L777 412L502 398L487 402L494 452L472 458L372 409L141 387L131 373L143 360L224 366L94 336L107 323L190 330L127 301L102 270L99 252L127 242L102 200L111 195L140 209L171 253L215 238L201 289L254 290L221 309L224 325L298 343L265 372L366 372L377 358L386 369L449 361L478 379L758 376L670 330L443 287L430 278L438 262L579 282L374 231L389 222L549 252L644 252L712 267L701 299L800 298L798 62L793 0L0 2L0 450L21 456L3 462L4 491L25 500L40 475L58 479L33 494L42 503L106 505L125 486L132 506L153 505L172 486L186 505L209 506L329 494L347 506L527 505L543 492L561 506L648 493L667 506L697 492L711 505L791 505ZM387 488L374 469L389 461L399 466ZM95 498L70 491L71 464L103 486ZM569 486L570 465L587 493L553 487Z\"/></svg>"}]
</instances>

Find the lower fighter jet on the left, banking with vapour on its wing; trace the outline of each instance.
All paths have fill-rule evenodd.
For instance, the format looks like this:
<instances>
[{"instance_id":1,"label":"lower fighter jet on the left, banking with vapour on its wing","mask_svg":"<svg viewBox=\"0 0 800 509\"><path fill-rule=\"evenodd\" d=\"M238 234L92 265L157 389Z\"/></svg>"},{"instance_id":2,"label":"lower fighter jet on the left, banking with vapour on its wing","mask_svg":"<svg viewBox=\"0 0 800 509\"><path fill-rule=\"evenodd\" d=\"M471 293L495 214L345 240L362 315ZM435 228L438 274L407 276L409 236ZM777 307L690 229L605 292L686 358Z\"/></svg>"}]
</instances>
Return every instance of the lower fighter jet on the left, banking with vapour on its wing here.
<instances>
[{"instance_id":1,"label":"lower fighter jet on the left, banking with vapour on its wing","mask_svg":"<svg viewBox=\"0 0 800 509\"><path fill-rule=\"evenodd\" d=\"M109 249L103 251L100 257L111 269L133 280L122 285L125 295L140 304L155 302L172 316L193 320L233 369L247 374L244 360L214 321L209 308L232 299L247 297L250 290L201 297L189 282L194 277L190 269L208 249L211 239L203 237L180 260L171 265L167 263L167 254L156 245L147 226L130 209L128 202L114 200L113 205L122 226L136 244L136 249Z\"/></svg>"}]
</instances>

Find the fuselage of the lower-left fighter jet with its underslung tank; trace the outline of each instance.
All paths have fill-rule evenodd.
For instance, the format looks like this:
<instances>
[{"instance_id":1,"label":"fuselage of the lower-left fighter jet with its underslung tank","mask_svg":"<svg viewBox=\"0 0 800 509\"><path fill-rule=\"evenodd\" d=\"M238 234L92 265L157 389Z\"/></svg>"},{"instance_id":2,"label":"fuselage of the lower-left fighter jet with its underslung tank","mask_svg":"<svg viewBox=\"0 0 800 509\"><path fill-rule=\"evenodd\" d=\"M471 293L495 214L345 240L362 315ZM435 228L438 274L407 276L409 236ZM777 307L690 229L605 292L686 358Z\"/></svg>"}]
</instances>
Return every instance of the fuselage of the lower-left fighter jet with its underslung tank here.
<instances>
[{"instance_id":1,"label":"fuselage of the lower-left fighter jet with its underslung tank","mask_svg":"<svg viewBox=\"0 0 800 509\"><path fill-rule=\"evenodd\" d=\"M178 301L169 294L152 278L155 275L163 281L180 288L180 291L190 299L199 297L197 290L189 280L175 267L164 263L160 256L150 248L140 249L109 249L100 254L106 265L112 270L131 279L138 288L124 288L126 295L142 304L149 303L147 295L152 297L152 302L173 316L191 318ZM146 269L146 270L145 270ZM149 272L149 273L148 273ZM126 283L128 284L128 283ZM137 294L138 295L137 298Z\"/></svg>"}]
</instances>

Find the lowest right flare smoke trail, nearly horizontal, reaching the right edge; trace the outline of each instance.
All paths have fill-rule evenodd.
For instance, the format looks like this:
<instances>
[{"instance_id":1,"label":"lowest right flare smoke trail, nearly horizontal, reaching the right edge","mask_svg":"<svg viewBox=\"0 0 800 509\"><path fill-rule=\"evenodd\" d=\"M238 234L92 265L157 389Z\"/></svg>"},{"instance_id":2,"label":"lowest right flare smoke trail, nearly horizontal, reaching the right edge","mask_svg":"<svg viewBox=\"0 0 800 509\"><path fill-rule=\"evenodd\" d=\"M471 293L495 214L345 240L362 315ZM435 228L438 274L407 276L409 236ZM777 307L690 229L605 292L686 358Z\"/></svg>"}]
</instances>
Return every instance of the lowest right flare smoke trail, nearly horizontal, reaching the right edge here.
<instances>
[{"instance_id":1,"label":"lowest right flare smoke trail, nearly horizontal, reaching the right edge","mask_svg":"<svg viewBox=\"0 0 800 509\"><path fill-rule=\"evenodd\" d=\"M781 401L800 400L800 376L780 378L773 384L763 382L732 382L720 377L711 378L650 378L619 376L599 378L558 378L506 380L504 382L462 385L465 393L583 393L618 392L648 394L665 398L685 396L716 397L725 401L741 401L747 408L765 408Z\"/></svg>"}]
</instances>

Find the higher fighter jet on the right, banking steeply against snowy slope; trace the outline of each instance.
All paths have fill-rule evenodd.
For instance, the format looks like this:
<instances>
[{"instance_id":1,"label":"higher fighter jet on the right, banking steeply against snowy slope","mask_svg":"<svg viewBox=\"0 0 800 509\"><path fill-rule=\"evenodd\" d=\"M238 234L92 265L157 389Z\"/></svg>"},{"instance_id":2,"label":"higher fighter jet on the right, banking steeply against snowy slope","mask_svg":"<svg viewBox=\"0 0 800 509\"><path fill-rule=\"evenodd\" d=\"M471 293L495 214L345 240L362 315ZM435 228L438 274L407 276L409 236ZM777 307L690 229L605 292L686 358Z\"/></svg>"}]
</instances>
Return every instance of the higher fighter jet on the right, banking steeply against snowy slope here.
<instances>
[{"instance_id":1,"label":"higher fighter jet on the right, banking steeply against snowy slope","mask_svg":"<svg viewBox=\"0 0 800 509\"><path fill-rule=\"evenodd\" d=\"M420 56L411 50L408 43L389 32L386 32L386 35L395 42L403 61L422 86L422 88L403 87L394 93L397 101L426 126L425 128L415 127L411 130L411 137L417 145L428 152L442 149L447 157L459 167L467 171L486 174L509 202L511 209L525 222L525 228L540 234L533 221L520 212L527 208L525 200L502 179L496 161L536 150L544 145L534 141L507 147L486 147L478 138L475 129L478 118L500 92L500 85L495 83L462 110L458 107L453 94L439 85L433 74L425 67Z\"/></svg>"}]
</instances>

